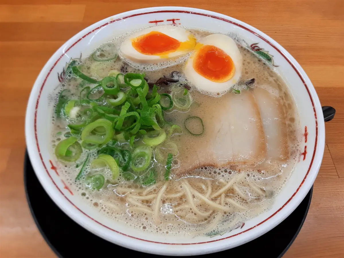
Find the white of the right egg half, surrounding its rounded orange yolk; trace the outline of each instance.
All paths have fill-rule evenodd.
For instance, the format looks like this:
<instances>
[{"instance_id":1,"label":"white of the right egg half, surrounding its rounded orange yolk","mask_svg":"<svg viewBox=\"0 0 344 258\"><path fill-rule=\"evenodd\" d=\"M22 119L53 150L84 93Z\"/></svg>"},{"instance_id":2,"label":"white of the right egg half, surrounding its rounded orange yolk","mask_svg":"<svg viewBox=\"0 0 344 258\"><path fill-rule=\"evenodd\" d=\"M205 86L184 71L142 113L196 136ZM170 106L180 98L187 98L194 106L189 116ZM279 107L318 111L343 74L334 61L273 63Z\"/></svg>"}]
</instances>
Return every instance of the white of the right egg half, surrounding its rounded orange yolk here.
<instances>
[{"instance_id":1,"label":"white of the right egg half, surrounding its rounded orange yolk","mask_svg":"<svg viewBox=\"0 0 344 258\"><path fill-rule=\"evenodd\" d=\"M186 78L195 85L199 90L209 93L223 93L230 89L234 84L238 82L243 70L243 57L233 39L224 34L212 34L204 37L199 43L203 45L216 46L223 50L227 55L232 58L235 72L232 78L223 83L212 82L211 80L204 78L198 74L193 68L194 57L197 52L190 56L185 65L184 74Z\"/></svg>"}]
</instances>

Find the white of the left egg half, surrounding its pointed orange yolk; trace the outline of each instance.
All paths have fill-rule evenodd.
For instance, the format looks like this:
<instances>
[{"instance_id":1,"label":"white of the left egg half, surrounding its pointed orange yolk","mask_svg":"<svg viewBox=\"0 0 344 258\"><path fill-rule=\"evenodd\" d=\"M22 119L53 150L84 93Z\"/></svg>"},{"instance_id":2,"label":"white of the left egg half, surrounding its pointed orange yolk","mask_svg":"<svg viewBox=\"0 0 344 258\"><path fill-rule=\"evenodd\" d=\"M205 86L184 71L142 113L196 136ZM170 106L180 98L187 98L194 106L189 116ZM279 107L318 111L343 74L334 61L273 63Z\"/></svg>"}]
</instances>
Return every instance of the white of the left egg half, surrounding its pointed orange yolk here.
<instances>
[{"instance_id":1,"label":"white of the left egg half, surrounding its pointed orange yolk","mask_svg":"<svg viewBox=\"0 0 344 258\"><path fill-rule=\"evenodd\" d=\"M136 37L148 34L152 31L158 31L161 33L164 33L170 37L173 37L174 39L185 42L190 39L191 33L186 31L183 28L180 28L178 26L171 26L171 25L161 25L161 26L153 26L147 29L144 29L142 31L139 31L137 33L134 33L126 39L122 45L120 46L120 51L122 55L129 60L136 62L136 63L158 63L163 62L171 58L176 58L181 55L184 55L187 53L187 51L175 51L172 53L169 53L168 55L159 56L159 55L145 55L140 52L138 52L133 46L132 46L132 39L135 39Z\"/></svg>"}]
</instances>

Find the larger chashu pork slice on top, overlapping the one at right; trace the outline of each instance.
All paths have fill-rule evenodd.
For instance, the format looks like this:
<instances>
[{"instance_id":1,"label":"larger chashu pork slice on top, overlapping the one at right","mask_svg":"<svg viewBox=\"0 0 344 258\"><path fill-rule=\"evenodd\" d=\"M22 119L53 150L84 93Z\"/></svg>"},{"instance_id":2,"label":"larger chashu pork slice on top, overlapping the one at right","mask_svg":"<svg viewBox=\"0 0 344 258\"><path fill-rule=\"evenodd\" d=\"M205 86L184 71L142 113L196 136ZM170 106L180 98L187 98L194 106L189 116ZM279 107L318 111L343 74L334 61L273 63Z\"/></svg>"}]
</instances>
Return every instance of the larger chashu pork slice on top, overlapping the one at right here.
<instances>
[{"instance_id":1,"label":"larger chashu pork slice on top, overlapping the one at right","mask_svg":"<svg viewBox=\"0 0 344 258\"><path fill-rule=\"evenodd\" d=\"M205 132L195 138L190 151L181 157L177 173L207 165L251 165L264 161L265 136L259 108L250 91L221 96L209 113L215 115L202 117Z\"/></svg>"}]
</instances>

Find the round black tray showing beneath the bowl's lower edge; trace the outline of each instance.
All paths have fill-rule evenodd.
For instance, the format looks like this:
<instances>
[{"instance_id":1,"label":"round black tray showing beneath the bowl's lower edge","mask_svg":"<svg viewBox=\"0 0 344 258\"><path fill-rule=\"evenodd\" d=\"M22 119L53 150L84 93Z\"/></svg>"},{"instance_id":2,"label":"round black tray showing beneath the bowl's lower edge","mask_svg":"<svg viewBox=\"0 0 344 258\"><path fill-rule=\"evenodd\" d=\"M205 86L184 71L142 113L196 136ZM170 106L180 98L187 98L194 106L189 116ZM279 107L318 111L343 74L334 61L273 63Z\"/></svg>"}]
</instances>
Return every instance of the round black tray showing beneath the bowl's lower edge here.
<instances>
[{"instance_id":1,"label":"round black tray showing beneath the bowl's lower edge","mask_svg":"<svg viewBox=\"0 0 344 258\"><path fill-rule=\"evenodd\" d=\"M34 221L58 257L159 257L112 244L69 218L46 194L34 173L28 153L24 160L26 198ZM300 232L311 204L313 187L301 204L282 223L244 245L199 257L282 257Z\"/></svg>"}]
</instances>

